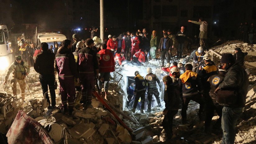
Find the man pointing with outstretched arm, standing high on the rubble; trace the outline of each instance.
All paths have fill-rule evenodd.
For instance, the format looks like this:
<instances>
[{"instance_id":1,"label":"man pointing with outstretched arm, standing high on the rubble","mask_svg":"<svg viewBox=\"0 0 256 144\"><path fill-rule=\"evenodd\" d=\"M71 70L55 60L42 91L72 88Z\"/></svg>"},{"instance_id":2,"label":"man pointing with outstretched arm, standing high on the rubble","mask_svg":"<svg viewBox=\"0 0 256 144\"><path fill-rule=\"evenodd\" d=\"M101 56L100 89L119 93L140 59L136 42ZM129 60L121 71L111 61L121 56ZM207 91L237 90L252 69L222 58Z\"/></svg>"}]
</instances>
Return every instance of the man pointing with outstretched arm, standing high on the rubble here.
<instances>
[{"instance_id":1,"label":"man pointing with outstretched arm, standing high on the rubble","mask_svg":"<svg viewBox=\"0 0 256 144\"><path fill-rule=\"evenodd\" d=\"M208 23L206 21L203 21L202 17L199 18L199 21L188 20L188 22L192 22L194 24L200 25L200 29L199 29L200 30L200 33L199 33L200 46L203 47L203 49L205 49Z\"/></svg>"}]
</instances>

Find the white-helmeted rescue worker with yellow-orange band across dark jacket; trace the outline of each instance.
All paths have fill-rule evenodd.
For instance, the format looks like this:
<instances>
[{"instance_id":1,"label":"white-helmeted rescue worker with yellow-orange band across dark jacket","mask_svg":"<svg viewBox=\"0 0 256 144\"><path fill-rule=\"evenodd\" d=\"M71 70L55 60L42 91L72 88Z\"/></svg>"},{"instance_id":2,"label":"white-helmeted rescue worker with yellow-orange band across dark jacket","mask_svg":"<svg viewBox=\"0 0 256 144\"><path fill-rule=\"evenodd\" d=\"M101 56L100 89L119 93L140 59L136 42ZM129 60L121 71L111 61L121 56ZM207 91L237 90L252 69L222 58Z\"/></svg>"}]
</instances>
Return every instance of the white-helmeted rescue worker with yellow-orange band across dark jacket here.
<instances>
[{"instance_id":1,"label":"white-helmeted rescue worker with yellow-orange band across dark jacket","mask_svg":"<svg viewBox=\"0 0 256 144\"><path fill-rule=\"evenodd\" d=\"M203 68L201 66L199 67L198 75L200 76L203 85L206 84L206 81L210 76L217 74L217 67L214 65L211 58L212 57L208 54L204 55L203 61L205 65Z\"/></svg>"}]
</instances>

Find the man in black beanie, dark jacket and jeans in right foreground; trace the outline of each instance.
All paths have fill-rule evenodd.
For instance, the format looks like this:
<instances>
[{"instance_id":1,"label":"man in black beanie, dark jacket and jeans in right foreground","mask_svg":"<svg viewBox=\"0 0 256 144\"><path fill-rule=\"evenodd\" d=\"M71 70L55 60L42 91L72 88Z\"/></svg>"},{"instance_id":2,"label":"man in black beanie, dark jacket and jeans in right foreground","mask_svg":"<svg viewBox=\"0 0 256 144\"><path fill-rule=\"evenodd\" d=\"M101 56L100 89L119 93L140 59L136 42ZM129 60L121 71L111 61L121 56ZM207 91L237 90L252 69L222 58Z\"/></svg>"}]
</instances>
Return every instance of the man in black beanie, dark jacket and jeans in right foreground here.
<instances>
[{"instance_id":1,"label":"man in black beanie, dark jacket and jeans in right foreground","mask_svg":"<svg viewBox=\"0 0 256 144\"><path fill-rule=\"evenodd\" d=\"M243 67L235 63L232 54L224 53L221 58L221 63L227 73L223 82L219 84L215 92L217 93L217 97L219 97L218 93L224 93L223 90L229 91L229 93L226 92L225 95L229 95L229 98L225 99L224 96L225 102L222 103L218 101L218 103L225 105L222 109L222 143L226 144L234 143L235 141L235 124L245 108L249 79ZM229 101L229 103L226 103L226 101Z\"/></svg>"}]
</instances>

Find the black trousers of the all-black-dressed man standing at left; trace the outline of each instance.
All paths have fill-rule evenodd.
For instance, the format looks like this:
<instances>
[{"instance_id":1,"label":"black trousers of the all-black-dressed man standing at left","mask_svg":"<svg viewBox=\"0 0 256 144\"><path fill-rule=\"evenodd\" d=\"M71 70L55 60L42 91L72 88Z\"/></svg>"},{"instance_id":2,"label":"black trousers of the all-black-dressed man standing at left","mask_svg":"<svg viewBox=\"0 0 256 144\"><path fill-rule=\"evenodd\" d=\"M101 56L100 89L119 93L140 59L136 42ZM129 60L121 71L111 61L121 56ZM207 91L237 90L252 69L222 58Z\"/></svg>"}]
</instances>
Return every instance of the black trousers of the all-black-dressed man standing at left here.
<instances>
[{"instance_id":1,"label":"black trousers of the all-black-dressed man standing at left","mask_svg":"<svg viewBox=\"0 0 256 144\"><path fill-rule=\"evenodd\" d=\"M41 83L42 90L43 90L43 95L46 93L45 98L47 99L47 102L50 104L50 99L48 95L48 86L49 86L49 91L51 94L51 103L52 106L56 105L56 94L55 94L55 88L54 88L54 83L55 83L55 77L54 74L39 74L39 82Z\"/></svg>"}]
</instances>

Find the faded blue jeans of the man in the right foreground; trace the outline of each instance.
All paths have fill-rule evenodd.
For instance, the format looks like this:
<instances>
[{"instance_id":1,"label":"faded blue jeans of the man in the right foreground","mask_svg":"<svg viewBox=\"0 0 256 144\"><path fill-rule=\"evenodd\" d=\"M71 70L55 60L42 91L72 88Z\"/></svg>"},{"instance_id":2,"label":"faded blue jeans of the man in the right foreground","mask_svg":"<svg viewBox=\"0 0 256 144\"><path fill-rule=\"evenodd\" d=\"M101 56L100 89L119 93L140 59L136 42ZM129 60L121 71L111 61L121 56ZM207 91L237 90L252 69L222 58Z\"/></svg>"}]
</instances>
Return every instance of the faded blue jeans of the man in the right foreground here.
<instances>
[{"instance_id":1,"label":"faded blue jeans of the man in the right foreground","mask_svg":"<svg viewBox=\"0 0 256 144\"><path fill-rule=\"evenodd\" d=\"M223 107L221 119L221 127L223 130L222 144L233 144L235 142L235 124L244 109L244 107Z\"/></svg>"}]
</instances>

